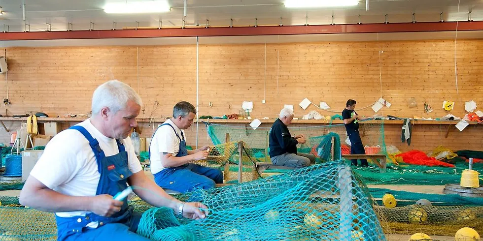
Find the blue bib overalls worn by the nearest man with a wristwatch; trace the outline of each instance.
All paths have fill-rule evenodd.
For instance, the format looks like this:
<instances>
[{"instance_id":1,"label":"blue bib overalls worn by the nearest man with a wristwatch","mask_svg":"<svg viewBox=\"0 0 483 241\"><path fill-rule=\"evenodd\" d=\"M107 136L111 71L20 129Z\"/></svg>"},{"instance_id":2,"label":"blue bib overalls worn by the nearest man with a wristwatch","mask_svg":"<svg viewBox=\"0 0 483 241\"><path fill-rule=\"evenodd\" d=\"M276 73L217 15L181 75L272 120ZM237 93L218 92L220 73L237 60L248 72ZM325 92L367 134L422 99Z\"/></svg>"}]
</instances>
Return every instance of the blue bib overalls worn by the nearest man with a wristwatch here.
<instances>
[{"instance_id":1,"label":"blue bib overalls worn by the nearest man with a wristwatch","mask_svg":"<svg viewBox=\"0 0 483 241\"><path fill-rule=\"evenodd\" d=\"M101 174L97 186L96 195L116 195L126 189L127 179L133 175L128 166L128 152L121 141L116 140L119 153L105 156L99 142L82 126L74 125L70 129L78 130L89 141L92 151L96 156L98 171ZM148 241L148 239L136 234L140 220L140 213L133 212L128 207L127 198L121 211L110 217L97 215L93 212L86 216L59 217L57 221L58 241L94 241L94 240L116 240L116 241ZM98 222L97 228L88 228L90 222Z\"/></svg>"}]
</instances>

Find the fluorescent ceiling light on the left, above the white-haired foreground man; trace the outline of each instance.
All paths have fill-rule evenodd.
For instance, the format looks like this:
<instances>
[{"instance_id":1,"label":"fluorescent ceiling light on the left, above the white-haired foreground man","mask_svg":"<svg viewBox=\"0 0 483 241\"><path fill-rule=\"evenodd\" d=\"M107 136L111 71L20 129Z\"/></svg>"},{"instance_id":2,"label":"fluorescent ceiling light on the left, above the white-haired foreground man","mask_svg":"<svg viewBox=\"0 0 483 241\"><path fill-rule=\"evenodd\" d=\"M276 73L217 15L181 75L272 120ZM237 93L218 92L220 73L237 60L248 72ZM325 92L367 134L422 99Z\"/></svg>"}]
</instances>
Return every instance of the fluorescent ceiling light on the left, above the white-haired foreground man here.
<instances>
[{"instance_id":1,"label":"fluorescent ceiling light on the left, above the white-haired foreground man","mask_svg":"<svg viewBox=\"0 0 483 241\"><path fill-rule=\"evenodd\" d=\"M168 1L124 1L106 3L105 13L157 13L170 11Z\"/></svg>"}]
</instances>

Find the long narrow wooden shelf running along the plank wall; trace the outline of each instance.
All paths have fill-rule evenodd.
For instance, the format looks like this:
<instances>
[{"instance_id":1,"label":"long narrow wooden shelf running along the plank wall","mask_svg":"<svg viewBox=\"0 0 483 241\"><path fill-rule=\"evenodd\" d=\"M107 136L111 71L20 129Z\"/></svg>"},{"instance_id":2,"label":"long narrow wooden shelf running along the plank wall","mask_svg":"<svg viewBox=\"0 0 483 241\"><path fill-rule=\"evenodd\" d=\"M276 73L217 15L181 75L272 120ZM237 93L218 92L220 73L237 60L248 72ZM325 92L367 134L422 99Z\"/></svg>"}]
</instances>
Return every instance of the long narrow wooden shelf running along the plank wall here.
<instances>
[{"instance_id":1,"label":"long narrow wooden shelf running along the plank wall","mask_svg":"<svg viewBox=\"0 0 483 241\"><path fill-rule=\"evenodd\" d=\"M85 121L87 118L66 118L66 117L38 117L37 121L44 122L44 121L72 121L72 122L81 122ZM149 118L137 118L138 122L149 122ZM259 119L262 123L273 123L275 119L268 119L263 120ZM0 121L27 121L27 117L21 118L13 118L13 117L0 117ZM156 121L165 121L165 119L156 119ZM232 119L200 119L198 122L208 122L208 123L217 123L217 124L249 124L252 120L232 120ZM195 121L196 122L196 121ZM361 124L379 124L380 120L371 120L371 121L361 121ZM431 120L412 120L414 124L424 124L424 125L454 125L459 121L431 121ZM293 120L293 124L320 124L320 125L327 125L330 122L326 120ZM343 124L342 120L332 120L332 124ZM483 124L476 121L468 121L470 125L477 125ZM384 120L384 124L398 124L402 125L403 120Z\"/></svg>"}]
</instances>

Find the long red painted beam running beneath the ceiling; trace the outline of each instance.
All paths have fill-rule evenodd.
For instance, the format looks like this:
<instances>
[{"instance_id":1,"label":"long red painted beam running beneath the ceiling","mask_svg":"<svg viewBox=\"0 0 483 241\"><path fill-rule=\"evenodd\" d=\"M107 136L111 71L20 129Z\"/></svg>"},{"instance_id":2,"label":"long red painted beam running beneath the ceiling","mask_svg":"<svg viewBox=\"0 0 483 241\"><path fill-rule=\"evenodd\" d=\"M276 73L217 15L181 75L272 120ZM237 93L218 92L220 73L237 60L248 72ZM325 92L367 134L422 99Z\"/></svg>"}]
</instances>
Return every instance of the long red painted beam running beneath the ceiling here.
<instances>
[{"instance_id":1,"label":"long red painted beam running beneath the ceiling","mask_svg":"<svg viewBox=\"0 0 483 241\"><path fill-rule=\"evenodd\" d=\"M374 32L431 32L454 31L456 22L421 22L389 24L344 24L309 26L261 26L223 27L161 30L75 30L1 32L0 40L40 40L40 39L93 39L93 38L142 38L142 37L206 37L206 36L246 36L246 35L290 35L290 34L330 34L330 33L374 33ZM483 30L483 21L459 22L458 30Z\"/></svg>"}]
</instances>

